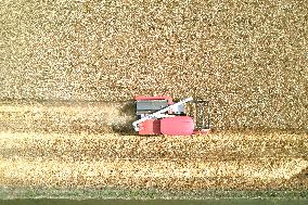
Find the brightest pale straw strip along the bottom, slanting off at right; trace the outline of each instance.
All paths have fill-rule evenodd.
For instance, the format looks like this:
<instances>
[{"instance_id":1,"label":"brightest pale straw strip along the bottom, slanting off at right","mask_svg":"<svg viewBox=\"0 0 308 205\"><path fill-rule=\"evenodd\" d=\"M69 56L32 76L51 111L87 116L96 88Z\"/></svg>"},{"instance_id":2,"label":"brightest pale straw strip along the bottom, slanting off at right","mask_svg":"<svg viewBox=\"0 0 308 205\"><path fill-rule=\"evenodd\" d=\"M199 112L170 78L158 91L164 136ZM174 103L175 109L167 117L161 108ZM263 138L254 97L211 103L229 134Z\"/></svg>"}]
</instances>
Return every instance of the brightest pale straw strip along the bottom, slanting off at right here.
<instances>
[{"instance_id":1,"label":"brightest pale straw strip along the bottom, slanting off at right","mask_svg":"<svg viewBox=\"0 0 308 205\"><path fill-rule=\"evenodd\" d=\"M255 161L27 161L0 159L0 183L26 187L125 187L200 189L236 187L242 183L278 184L308 166L300 158L258 158ZM224 182L223 182L224 181Z\"/></svg>"}]
</instances>

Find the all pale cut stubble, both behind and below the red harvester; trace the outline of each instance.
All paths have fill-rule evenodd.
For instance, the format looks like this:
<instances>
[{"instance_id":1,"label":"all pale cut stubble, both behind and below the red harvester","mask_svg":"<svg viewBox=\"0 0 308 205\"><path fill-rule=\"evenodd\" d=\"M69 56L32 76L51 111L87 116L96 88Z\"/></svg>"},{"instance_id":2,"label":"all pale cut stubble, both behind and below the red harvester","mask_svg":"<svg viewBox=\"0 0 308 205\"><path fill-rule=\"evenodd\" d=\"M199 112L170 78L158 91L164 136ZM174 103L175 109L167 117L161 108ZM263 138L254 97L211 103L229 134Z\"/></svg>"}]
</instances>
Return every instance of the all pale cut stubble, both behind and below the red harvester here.
<instances>
[{"instance_id":1,"label":"all pale cut stubble, both behind and below the red harvester","mask_svg":"<svg viewBox=\"0 0 308 205\"><path fill-rule=\"evenodd\" d=\"M307 168L305 132L226 131L183 138L120 136L102 129L130 125L129 112L120 111L120 103L2 102L0 184L177 190L307 187L297 177ZM80 120L68 129L76 119ZM100 120L99 127L92 126L93 119Z\"/></svg>"}]
</instances>

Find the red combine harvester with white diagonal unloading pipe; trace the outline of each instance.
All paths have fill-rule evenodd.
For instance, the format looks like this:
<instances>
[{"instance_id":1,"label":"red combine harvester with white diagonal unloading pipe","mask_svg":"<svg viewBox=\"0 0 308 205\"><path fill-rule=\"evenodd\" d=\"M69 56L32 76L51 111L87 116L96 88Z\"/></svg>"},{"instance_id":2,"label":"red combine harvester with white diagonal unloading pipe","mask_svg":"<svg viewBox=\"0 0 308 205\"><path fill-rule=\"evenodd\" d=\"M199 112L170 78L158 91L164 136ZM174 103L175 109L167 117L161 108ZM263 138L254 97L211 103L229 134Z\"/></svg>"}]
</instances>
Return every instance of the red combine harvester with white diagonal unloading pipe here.
<instances>
[{"instance_id":1,"label":"red combine harvester with white diagonal unloading pipe","mask_svg":"<svg viewBox=\"0 0 308 205\"><path fill-rule=\"evenodd\" d=\"M134 100L138 120L132 125L139 134L191 136L209 133L210 107L208 101L194 101L193 98L188 98L174 102L172 98L166 95L137 95Z\"/></svg>"}]
</instances>

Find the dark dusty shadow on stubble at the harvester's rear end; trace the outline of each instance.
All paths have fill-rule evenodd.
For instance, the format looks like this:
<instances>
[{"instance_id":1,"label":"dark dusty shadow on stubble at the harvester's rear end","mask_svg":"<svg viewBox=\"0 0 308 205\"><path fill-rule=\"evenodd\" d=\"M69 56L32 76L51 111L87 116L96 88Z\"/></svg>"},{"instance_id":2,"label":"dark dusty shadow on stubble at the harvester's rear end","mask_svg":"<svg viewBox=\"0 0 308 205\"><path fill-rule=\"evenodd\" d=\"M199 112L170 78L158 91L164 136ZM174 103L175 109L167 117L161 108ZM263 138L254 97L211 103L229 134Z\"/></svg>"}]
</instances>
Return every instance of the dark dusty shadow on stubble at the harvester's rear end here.
<instances>
[{"instance_id":1,"label":"dark dusty shadow on stubble at the harvester's rear end","mask_svg":"<svg viewBox=\"0 0 308 205\"><path fill-rule=\"evenodd\" d=\"M136 131L132 127L132 123L136 120L134 117L136 103L126 102L124 106L119 110L120 116L127 116L127 120L124 124L112 125L112 130L121 136L133 136Z\"/></svg>"}]
</instances>

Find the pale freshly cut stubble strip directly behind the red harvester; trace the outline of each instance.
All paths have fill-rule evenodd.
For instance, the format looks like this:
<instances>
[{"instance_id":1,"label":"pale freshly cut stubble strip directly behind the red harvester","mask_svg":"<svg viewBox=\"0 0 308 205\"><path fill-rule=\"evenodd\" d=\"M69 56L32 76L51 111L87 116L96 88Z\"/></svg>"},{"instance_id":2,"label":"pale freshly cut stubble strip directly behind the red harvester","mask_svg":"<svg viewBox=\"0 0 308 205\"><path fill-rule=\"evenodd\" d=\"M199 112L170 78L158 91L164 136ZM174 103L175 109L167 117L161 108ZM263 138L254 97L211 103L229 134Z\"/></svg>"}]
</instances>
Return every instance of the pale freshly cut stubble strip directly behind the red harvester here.
<instances>
[{"instance_id":1,"label":"pale freshly cut stubble strip directly behind the red harvester","mask_svg":"<svg viewBox=\"0 0 308 205\"><path fill-rule=\"evenodd\" d=\"M116 102L0 102L2 130L21 132L111 132L127 127L133 115ZM128 125L130 126L130 125Z\"/></svg>"}]
</instances>

